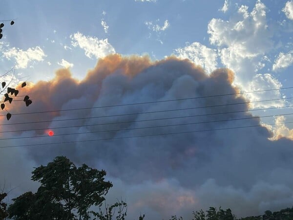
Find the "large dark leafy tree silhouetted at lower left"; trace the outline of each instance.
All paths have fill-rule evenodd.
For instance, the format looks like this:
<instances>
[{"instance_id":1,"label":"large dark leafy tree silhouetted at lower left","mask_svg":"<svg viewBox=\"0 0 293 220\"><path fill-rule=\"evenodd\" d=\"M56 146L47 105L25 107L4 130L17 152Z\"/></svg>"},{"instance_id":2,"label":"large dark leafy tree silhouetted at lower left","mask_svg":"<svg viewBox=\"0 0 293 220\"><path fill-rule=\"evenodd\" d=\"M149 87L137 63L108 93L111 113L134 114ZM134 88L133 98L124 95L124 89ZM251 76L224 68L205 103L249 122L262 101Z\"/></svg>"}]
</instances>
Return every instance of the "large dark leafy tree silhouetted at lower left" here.
<instances>
[{"instance_id":1,"label":"large dark leafy tree silhouetted at lower left","mask_svg":"<svg viewBox=\"0 0 293 220\"><path fill-rule=\"evenodd\" d=\"M41 186L35 194L28 192L14 198L8 208L9 218L76 220L79 216L80 220L88 220L89 207L101 205L113 186L104 181L104 170L98 171L85 164L77 168L64 156L57 156L47 166L35 168L32 174L32 180L39 181Z\"/></svg>"}]
</instances>

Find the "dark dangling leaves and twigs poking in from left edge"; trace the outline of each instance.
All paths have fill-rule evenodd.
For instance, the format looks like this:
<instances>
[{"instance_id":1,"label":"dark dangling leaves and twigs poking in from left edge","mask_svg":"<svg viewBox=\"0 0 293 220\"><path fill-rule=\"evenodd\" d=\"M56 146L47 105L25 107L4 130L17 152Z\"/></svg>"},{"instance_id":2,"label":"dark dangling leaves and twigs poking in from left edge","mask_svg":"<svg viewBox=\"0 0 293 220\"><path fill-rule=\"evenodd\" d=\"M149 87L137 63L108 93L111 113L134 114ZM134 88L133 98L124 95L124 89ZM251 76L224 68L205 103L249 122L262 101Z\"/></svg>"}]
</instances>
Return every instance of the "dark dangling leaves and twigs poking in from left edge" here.
<instances>
[{"instance_id":1,"label":"dark dangling leaves and twigs poking in from left edge","mask_svg":"<svg viewBox=\"0 0 293 220\"><path fill-rule=\"evenodd\" d=\"M2 34L2 31L3 30L2 30L2 28L5 25L3 22L7 22L7 20L6 21L0 21L0 22L1 22L0 23L0 39L2 39L2 37L3 37L3 34ZM10 25L13 25L13 24L14 24L14 21L10 21ZM9 73L13 73L13 74L12 74L12 77L11 77L10 81L8 83L6 83L2 79L3 79L3 77L8 76ZM15 73L15 66L12 67L11 70L6 71L3 75L0 76L0 79L2 81L1 82L1 88L0 88L0 94L5 97L3 101L0 101L0 103L1 103L0 104L1 110L6 110L5 109L5 102L8 101L11 104L11 102L13 101L13 98L16 97L19 94L19 90L18 89L9 87L10 84L12 83L12 81L13 81L14 73ZM23 88L25 86L26 86L26 83L23 82L21 84L21 88ZM5 92L5 93L2 94L3 92ZM10 93L11 96L9 96L9 93ZM14 97L12 97L12 95L14 95ZM24 96L23 102L25 102L26 107L28 107L30 104L32 104L32 100L29 98L28 95ZM11 113L8 110L6 110L6 111L7 111L6 118L7 118L7 120L9 120L11 118Z\"/></svg>"}]
</instances>

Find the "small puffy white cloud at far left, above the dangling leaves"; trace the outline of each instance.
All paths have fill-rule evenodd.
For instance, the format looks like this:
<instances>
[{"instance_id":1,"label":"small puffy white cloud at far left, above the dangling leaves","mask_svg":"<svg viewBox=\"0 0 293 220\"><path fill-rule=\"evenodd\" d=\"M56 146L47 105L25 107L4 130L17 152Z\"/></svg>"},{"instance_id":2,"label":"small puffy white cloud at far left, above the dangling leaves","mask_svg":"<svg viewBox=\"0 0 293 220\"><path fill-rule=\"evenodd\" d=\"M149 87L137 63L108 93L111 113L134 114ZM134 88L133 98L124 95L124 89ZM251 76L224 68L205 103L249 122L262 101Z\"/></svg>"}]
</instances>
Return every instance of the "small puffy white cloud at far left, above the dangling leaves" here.
<instances>
[{"instance_id":1,"label":"small puffy white cloud at far left, above the dangling leaves","mask_svg":"<svg viewBox=\"0 0 293 220\"><path fill-rule=\"evenodd\" d=\"M19 69L26 68L31 62L43 61L43 58L46 57L44 51L39 46L28 48L26 51L13 47L5 51L3 55L7 59L15 59L16 68Z\"/></svg>"}]
</instances>

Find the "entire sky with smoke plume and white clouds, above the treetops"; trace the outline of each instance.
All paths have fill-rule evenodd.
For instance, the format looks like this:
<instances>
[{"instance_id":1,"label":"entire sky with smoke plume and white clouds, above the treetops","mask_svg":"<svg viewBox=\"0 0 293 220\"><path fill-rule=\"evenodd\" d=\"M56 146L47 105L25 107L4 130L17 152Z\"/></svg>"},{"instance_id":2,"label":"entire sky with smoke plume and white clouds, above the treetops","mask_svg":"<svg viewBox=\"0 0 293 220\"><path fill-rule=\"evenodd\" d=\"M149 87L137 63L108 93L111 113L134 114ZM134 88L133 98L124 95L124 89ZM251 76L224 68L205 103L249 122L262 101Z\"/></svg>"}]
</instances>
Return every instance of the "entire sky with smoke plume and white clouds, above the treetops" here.
<instances>
[{"instance_id":1,"label":"entire sky with smoke plume and white clouds, above the treetops","mask_svg":"<svg viewBox=\"0 0 293 220\"><path fill-rule=\"evenodd\" d=\"M0 40L1 75L14 75L1 80L26 81L18 100L33 101L6 102L12 118L0 118L9 198L36 191L33 167L65 155L104 169L107 201L124 198L129 219L292 207L292 0L0 4L15 21Z\"/></svg>"}]
</instances>

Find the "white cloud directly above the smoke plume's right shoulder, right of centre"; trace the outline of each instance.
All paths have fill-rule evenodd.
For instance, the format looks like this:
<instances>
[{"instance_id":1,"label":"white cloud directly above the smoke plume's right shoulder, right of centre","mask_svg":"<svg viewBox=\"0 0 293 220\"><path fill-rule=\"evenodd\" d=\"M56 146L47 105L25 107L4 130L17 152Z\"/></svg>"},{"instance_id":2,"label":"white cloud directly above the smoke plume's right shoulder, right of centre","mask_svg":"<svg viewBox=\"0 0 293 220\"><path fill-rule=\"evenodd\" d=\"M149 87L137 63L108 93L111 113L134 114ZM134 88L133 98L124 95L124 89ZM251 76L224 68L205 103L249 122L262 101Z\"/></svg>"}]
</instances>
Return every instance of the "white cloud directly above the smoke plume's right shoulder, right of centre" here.
<instances>
[{"instance_id":1,"label":"white cloud directly above the smoke plume's right shoulder, right of centre","mask_svg":"<svg viewBox=\"0 0 293 220\"><path fill-rule=\"evenodd\" d=\"M194 64L202 66L208 73L217 66L217 52L198 42L194 42L183 48L175 49L176 56L181 59L189 59Z\"/></svg>"}]
</instances>

